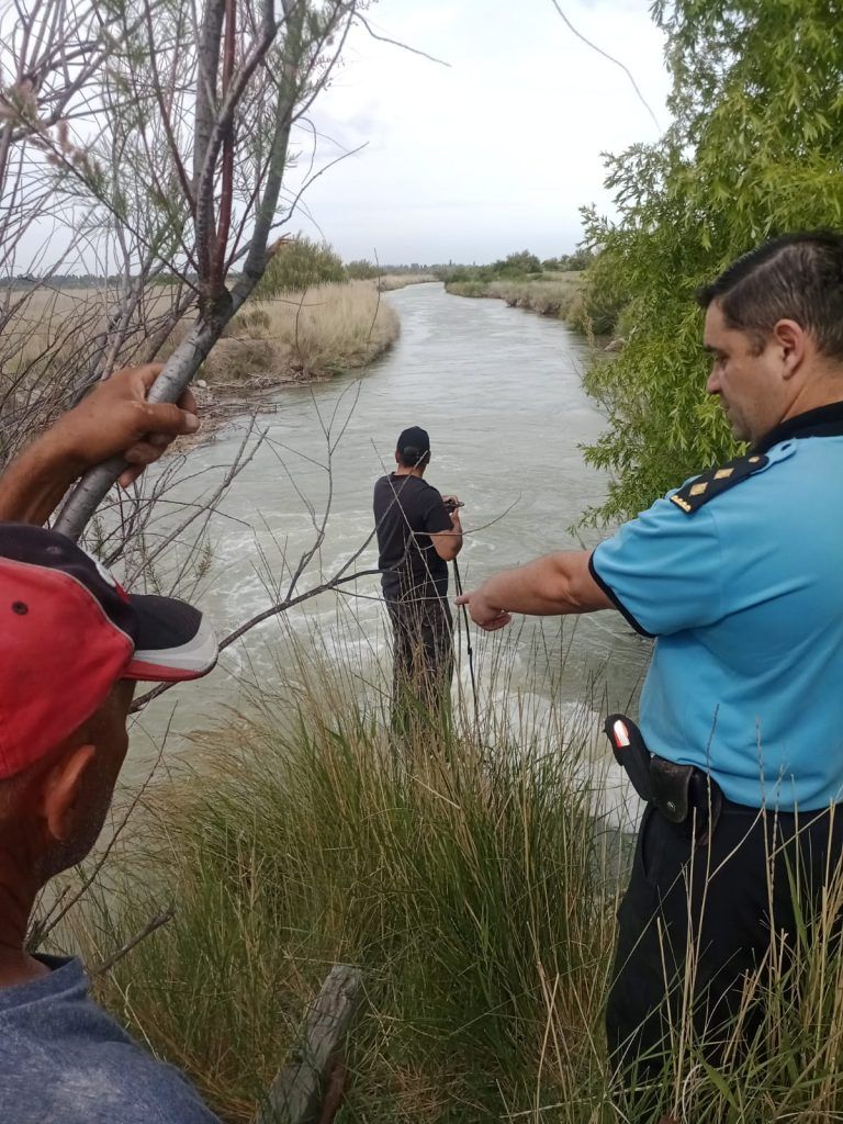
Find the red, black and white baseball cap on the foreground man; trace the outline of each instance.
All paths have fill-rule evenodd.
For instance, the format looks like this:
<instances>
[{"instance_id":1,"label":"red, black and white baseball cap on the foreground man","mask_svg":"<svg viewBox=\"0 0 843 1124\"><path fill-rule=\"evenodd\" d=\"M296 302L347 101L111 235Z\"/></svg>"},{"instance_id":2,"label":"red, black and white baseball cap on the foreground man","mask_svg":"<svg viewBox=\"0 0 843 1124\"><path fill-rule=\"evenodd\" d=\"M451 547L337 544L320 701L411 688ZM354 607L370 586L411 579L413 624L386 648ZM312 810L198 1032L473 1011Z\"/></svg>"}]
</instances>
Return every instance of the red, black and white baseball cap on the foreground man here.
<instances>
[{"instance_id":1,"label":"red, black and white baseball cap on the foreground man","mask_svg":"<svg viewBox=\"0 0 843 1124\"><path fill-rule=\"evenodd\" d=\"M64 535L0 524L0 780L61 744L118 679L198 679L217 654L199 609L129 596Z\"/></svg>"}]
</instances>

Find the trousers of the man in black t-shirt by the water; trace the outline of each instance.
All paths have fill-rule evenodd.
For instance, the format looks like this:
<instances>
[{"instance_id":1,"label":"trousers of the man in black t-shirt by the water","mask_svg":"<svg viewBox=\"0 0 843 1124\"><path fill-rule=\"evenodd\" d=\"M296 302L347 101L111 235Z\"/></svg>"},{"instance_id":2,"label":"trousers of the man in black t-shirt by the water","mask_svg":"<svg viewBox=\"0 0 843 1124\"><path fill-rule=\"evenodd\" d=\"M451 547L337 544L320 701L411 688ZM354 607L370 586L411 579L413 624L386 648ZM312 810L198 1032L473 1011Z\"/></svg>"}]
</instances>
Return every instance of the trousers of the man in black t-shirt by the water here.
<instances>
[{"instance_id":1,"label":"trousers of the man in black t-shirt by the water","mask_svg":"<svg viewBox=\"0 0 843 1124\"><path fill-rule=\"evenodd\" d=\"M392 620L392 726L448 713L454 673L453 619L445 597L387 601Z\"/></svg>"}]
</instances>

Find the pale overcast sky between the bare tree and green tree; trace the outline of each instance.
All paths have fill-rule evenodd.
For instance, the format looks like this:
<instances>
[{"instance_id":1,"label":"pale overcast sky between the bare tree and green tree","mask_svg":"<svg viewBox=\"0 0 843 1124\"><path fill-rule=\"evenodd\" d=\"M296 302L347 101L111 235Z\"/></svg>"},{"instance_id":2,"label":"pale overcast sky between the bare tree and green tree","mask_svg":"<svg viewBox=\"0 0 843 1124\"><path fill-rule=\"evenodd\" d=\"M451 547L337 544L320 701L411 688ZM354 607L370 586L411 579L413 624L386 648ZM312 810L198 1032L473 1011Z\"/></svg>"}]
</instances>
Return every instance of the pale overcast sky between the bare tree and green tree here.
<instances>
[{"instance_id":1,"label":"pale overcast sky between the bare tree and green tree","mask_svg":"<svg viewBox=\"0 0 843 1124\"><path fill-rule=\"evenodd\" d=\"M667 124L668 75L650 0L561 0L574 26L628 66ZM552 0L379 0L378 34L350 40L314 111L325 162L293 223L346 260L484 262L573 248L578 207L610 211L601 152L658 135L629 80L565 27Z\"/></svg>"}]
</instances>

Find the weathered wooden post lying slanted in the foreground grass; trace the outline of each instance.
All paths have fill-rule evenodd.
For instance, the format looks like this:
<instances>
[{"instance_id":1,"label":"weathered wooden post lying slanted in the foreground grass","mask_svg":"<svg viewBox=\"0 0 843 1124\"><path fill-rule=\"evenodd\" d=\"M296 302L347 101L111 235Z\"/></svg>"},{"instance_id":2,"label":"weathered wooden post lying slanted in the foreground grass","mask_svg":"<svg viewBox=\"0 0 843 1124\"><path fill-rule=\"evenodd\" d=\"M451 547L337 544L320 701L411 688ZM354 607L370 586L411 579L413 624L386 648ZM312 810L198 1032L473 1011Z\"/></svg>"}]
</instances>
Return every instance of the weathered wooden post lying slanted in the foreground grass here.
<instances>
[{"instance_id":1,"label":"weathered wooden post lying slanted in the foreground grass","mask_svg":"<svg viewBox=\"0 0 843 1124\"><path fill-rule=\"evenodd\" d=\"M270 1087L257 1124L320 1124L323 1099L338 1051L360 1001L363 976L351 964L334 964L305 1018L303 1044ZM339 1072L339 1071L338 1071ZM334 1081L333 1084L337 1084ZM333 1090L333 1120L339 1098Z\"/></svg>"}]
</instances>

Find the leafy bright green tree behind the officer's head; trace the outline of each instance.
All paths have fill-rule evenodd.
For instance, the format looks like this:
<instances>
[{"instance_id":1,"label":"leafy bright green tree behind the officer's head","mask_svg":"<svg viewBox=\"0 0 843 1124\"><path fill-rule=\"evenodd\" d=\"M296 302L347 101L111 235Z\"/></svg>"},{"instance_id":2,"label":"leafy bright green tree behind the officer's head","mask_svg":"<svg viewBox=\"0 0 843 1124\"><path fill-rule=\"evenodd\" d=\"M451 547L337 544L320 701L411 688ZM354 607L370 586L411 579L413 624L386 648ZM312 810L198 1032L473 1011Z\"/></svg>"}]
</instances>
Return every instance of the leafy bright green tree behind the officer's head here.
<instances>
[{"instance_id":1,"label":"leafy bright green tree behind the officer's head","mask_svg":"<svg viewBox=\"0 0 843 1124\"><path fill-rule=\"evenodd\" d=\"M617 220L584 211L601 253L583 319L624 302L623 353L586 377L609 423L586 457L614 475L606 504L586 513L595 523L634 515L736 452L705 393L696 289L768 237L843 224L837 0L659 0L653 11L673 121L659 143L609 157Z\"/></svg>"}]
</instances>

